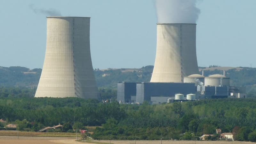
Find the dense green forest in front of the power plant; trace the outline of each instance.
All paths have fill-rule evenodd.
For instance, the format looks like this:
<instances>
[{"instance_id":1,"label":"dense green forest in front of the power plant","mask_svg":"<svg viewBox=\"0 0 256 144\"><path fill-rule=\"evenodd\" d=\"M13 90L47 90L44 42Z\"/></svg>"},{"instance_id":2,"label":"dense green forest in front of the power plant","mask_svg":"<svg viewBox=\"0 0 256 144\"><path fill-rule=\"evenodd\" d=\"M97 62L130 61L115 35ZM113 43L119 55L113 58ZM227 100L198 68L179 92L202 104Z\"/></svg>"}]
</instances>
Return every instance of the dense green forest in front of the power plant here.
<instances>
[{"instance_id":1,"label":"dense green forest in front of the power plant","mask_svg":"<svg viewBox=\"0 0 256 144\"><path fill-rule=\"evenodd\" d=\"M233 132L236 140L255 141L256 99L217 99L162 105L103 103L79 98L1 98L0 118L20 130L76 123L102 126L94 139L197 140L203 134ZM3 124L2 124L3 125ZM0 124L1 127L1 124ZM216 140L217 135L211 137Z\"/></svg>"}]
</instances>

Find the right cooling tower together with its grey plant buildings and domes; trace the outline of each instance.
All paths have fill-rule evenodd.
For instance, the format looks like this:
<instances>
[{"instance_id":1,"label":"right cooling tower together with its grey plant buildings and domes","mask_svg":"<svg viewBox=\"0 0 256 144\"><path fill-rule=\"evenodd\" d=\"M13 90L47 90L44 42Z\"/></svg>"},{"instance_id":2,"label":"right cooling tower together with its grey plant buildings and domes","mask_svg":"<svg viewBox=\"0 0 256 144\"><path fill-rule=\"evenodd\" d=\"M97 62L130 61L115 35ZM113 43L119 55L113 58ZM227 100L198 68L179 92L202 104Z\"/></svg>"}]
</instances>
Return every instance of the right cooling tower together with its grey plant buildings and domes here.
<instances>
[{"instance_id":1,"label":"right cooling tower together with its grey plant buildings and domes","mask_svg":"<svg viewBox=\"0 0 256 144\"><path fill-rule=\"evenodd\" d=\"M245 87L230 86L223 75L199 75L196 24L157 24L156 59L150 82L117 84L119 103L151 104L175 101L246 98Z\"/></svg>"}]
</instances>

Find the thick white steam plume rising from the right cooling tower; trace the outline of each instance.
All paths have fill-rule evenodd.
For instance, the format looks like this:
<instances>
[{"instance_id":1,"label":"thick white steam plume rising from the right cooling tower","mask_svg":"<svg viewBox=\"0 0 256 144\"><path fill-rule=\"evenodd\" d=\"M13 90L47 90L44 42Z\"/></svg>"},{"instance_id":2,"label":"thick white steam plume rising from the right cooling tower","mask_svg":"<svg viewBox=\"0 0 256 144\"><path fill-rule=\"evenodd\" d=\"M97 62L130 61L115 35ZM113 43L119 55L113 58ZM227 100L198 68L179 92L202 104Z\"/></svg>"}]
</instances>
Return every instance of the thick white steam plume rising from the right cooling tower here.
<instances>
[{"instance_id":1,"label":"thick white steam plume rising from the right cooling tower","mask_svg":"<svg viewBox=\"0 0 256 144\"><path fill-rule=\"evenodd\" d=\"M196 23L199 0L155 0L158 23Z\"/></svg>"}]
</instances>

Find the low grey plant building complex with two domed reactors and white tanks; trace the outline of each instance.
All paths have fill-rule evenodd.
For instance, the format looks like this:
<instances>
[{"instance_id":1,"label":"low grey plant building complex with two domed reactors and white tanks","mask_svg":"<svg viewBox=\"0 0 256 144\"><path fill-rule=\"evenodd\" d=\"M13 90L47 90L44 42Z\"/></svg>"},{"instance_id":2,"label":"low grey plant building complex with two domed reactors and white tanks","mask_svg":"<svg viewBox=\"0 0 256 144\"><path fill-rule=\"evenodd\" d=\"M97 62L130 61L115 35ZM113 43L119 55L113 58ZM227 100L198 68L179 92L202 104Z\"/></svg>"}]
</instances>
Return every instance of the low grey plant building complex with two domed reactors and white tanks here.
<instances>
[{"instance_id":1,"label":"low grey plant building complex with two domed reactors and white tanks","mask_svg":"<svg viewBox=\"0 0 256 144\"><path fill-rule=\"evenodd\" d=\"M173 101L246 98L246 88L230 86L230 79L224 75L186 77L188 83L127 83L117 84L117 100L120 103L161 104ZM184 81L185 81L184 79ZM199 80L199 81L198 81ZM185 97L184 97L185 96Z\"/></svg>"}]
</instances>

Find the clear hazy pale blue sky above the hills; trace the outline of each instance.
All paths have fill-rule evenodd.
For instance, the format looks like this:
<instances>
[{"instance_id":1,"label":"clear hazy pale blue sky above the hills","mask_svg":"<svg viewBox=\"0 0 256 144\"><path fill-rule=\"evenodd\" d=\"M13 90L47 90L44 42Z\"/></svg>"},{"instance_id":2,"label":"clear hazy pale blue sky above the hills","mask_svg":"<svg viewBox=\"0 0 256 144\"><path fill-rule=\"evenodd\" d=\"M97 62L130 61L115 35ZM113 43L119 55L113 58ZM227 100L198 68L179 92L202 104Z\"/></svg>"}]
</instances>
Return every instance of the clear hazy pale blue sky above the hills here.
<instances>
[{"instance_id":1,"label":"clear hazy pale blue sky above the hills","mask_svg":"<svg viewBox=\"0 0 256 144\"><path fill-rule=\"evenodd\" d=\"M256 1L201 0L198 66L256 67ZM0 66L42 68L46 14L91 17L93 68L154 65L153 0L0 0Z\"/></svg>"}]
</instances>

